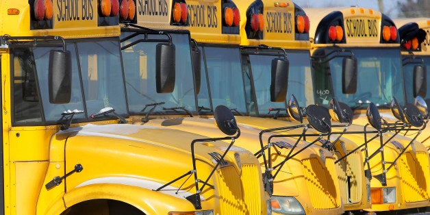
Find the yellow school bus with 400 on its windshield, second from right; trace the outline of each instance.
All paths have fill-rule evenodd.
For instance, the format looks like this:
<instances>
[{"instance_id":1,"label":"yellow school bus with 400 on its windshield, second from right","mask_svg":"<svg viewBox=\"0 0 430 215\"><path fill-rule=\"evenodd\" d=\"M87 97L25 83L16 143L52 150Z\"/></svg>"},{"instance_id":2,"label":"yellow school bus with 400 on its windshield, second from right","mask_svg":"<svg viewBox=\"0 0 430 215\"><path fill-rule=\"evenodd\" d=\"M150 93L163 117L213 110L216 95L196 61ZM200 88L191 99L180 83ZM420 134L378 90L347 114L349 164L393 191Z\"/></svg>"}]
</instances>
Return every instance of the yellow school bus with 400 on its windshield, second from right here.
<instances>
[{"instance_id":1,"label":"yellow school bus with 400 on its windshield, second from right","mask_svg":"<svg viewBox=\"0 0 430 215\"><path fill-rule=\"evenodd\" d=\"M379 110L383 127L392 125L388 123L397 120L391 113L395 109L390 108L399 106L392 105L394 98L405 103L396 25L385 14L367 8L305 11L313 21L309 37L316 103L329 105L336 97L353 109L353 123L358 125L368 122L370 103ZM357 76L350 74L355 81L342 76L345 56L357 60ZM380 126L377 129L379 141L368 144L366 156L372 172L372 210L416 212L429 203L427 150L420 142L399 134L405 127L383 134Z\"/></svg>"}]
</instances>

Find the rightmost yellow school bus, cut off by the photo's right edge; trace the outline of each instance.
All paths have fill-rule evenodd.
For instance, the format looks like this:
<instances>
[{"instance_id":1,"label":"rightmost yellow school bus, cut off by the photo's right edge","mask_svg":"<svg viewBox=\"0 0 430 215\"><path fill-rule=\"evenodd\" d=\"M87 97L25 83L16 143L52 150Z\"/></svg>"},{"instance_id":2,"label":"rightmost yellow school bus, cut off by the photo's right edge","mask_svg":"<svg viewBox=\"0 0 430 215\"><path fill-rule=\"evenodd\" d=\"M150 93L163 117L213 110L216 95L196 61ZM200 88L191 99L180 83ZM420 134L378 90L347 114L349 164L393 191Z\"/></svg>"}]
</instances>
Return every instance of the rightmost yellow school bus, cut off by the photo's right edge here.
<instances>
[{"instance_id":1,"label":"rightmost yellow school bus, cut off by the photo's right edge","mask_svg":"<svg viewBox=\"0 0 430 215\"><path fill-rule=\"evenodd\" d=\"M401 40L406 101L408 103L415 103L415 98L420 96L425 99L426 104L429 105L429 76L427 75L427 79L425 79L427 87L421 90L418 84L414 84L416 83L416 81L414 81L414 73L417 73L417 66L418 68L423 66L426 71L429 71L430 18L396 18L394 19L394 23L399 27L399 36ZM430 134L428 126L422 131L422 134L418 136L417 140L422 142L427 149L430 149Z\"/></svg>"}]
</instances>

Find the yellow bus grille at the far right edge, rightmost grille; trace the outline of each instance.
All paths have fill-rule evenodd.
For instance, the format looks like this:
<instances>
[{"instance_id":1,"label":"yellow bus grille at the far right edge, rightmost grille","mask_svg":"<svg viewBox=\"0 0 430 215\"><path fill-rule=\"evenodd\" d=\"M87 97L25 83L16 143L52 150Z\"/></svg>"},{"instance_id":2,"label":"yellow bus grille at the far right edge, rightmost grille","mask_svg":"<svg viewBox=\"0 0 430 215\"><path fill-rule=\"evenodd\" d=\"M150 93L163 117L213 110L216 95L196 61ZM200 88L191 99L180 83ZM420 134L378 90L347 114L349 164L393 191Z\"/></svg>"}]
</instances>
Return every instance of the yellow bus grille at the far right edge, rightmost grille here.
<instances>
[{"instance_id":1,"label":"yellow bus grille at the far right edge, rightmost grille","mask_svg":"<svg viewBox=\"0 0 430 215\"><path fill-rule=\"evenodd\" d=\"M408 203L429 199L427 193L428 156L425 152L417 152L415 160L411 153L403 153L399 159L403 197Z\"/></svg>"}]
</instances>

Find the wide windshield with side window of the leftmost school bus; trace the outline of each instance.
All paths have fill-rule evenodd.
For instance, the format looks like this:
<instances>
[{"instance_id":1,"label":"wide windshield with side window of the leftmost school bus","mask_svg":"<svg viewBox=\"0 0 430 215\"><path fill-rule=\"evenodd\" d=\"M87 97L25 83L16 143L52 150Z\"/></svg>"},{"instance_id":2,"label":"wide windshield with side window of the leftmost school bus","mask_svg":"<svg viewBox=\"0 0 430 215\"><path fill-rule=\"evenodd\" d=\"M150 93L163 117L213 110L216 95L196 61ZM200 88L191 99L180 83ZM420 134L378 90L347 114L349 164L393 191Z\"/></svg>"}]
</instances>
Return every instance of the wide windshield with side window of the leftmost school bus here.
<instances>
[{"instance_id":1,"label":"wide windshield with side window of the leftmost school bus","mask_svg":"<svg viewBox=\"0 0 430 215\"><path fill-rule=\"evenodd\" d=\"M127 114L118 40L68 40L66 45L72 56L72 94L66 104L49 103L45 84L49 51L58 48L11 49L15 125L55 124L68 110L84 111L73 117L81 120L108 107L118 114Z\"/></svg>"}]
</instances>

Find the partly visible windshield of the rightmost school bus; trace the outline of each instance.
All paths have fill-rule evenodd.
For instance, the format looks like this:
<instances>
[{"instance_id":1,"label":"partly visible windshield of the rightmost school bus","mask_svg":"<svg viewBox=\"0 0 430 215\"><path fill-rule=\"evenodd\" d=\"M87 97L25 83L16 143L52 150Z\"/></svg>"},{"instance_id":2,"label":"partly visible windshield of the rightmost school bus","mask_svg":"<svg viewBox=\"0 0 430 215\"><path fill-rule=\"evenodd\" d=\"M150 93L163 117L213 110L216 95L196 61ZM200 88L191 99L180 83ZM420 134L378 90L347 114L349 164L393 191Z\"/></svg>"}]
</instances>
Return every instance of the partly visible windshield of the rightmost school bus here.
<instances>
[{"instance_id":1,"label":"partly visible windshield of the rightmost school bus","mask_svg":"<svg viewBox=\"0 0 430 215\"><path fill-rule=\"evenodd\" d=\"M418 60L424 60L424 64L427 67L427 71L430 71L430 56L420 56L417 55ZM414 66L417 64L405 64L403 66L403 78L405 79L405 90L406 90L406 101L407 103L414 103ZM427 97L430 98L430 75L427 75Z\"/></svg>"}]
</instances>

